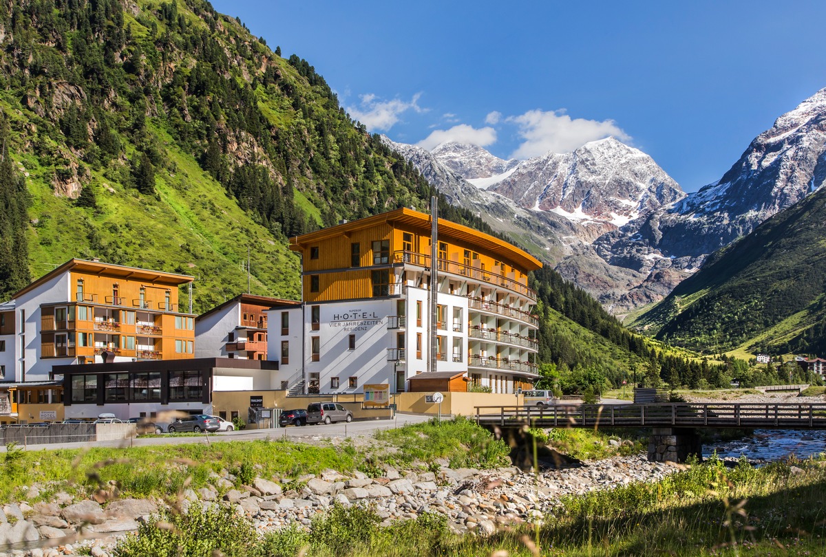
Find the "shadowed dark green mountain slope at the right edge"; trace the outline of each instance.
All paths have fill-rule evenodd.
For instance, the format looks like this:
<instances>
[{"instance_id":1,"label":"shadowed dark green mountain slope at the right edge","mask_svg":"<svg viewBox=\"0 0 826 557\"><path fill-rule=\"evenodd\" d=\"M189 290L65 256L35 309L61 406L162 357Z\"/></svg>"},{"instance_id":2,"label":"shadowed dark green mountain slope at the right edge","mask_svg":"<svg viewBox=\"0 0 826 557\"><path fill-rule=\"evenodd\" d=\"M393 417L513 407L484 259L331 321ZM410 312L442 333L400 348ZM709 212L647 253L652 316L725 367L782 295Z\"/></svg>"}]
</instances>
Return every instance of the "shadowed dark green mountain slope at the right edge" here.
<instances>
[{"instance_id":1,"label":"shadowed dark green mountain slope at the right edge","mask_svg":"<svg viewBox=\"0 0 826 557\"><path fill-rule=\"evenodd\" d=\"M826 191L715 253L635 324L704 352L826 353Z\"/></svg>"}]
</instances>

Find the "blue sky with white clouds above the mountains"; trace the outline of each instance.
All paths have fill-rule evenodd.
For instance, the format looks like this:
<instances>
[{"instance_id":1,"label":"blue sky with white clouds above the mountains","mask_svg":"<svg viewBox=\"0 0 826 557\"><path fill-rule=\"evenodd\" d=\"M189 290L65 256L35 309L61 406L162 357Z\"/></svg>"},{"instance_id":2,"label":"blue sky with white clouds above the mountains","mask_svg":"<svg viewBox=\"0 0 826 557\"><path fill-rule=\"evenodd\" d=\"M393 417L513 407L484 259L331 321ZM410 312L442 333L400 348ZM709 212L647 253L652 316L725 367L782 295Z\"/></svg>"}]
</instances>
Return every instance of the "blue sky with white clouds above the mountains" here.
<instances>
[{"instance_id":1,"label":"blue sky with white clouds above the mountains","mask_svg":"<svg viewBox=\"0 0 826 557\"><path fill-rule=\"evenodd\" d=\"M686 191L826 87L826 2L214 0L368 129L501 158L614 135Z\"/></svg>"}]
</instances>

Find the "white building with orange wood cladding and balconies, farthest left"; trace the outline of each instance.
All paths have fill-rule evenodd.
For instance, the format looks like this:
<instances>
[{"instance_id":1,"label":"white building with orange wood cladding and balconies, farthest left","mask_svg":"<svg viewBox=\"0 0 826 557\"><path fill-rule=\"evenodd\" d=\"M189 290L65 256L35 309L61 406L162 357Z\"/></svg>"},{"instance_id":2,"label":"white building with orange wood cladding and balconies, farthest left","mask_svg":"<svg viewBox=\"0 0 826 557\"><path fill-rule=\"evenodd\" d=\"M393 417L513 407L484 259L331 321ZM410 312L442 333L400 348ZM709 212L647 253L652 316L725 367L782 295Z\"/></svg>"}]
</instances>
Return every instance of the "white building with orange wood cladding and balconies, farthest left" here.
<instances>
[{"instance_id":1,"label":"white building with orange wood cladding and balconies, farthest left","mask_svg":"<svg viewBox=\"0 0 826 557\"><path fill-rule=\"evenodd\" d=\"M62 397L52 366L194 357L192 276L71 259L0 304L0 413ZM41 384L41 385L36 385ZM46 391L44 394L42 391ZM6 397L2 397L6 394ZM6 404L8 403L8 404Z\"/></svg>"}]
</instances>

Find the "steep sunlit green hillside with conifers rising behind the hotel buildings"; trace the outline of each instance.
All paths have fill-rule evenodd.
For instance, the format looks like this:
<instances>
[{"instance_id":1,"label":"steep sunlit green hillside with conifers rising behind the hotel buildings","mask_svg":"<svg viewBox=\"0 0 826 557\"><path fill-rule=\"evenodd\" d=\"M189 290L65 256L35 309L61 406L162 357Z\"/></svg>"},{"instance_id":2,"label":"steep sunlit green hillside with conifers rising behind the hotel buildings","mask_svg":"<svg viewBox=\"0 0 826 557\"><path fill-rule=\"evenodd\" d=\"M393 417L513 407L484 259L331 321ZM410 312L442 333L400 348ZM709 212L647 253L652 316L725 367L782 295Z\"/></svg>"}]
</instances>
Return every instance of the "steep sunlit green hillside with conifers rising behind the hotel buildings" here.
<instances>
[{"instance_id":1,"label":"steep sunlit green hillside with conifers rising behind the hotel buildings","mask_svg":"<svg viewBox=\"0 0 826 557\"><path fill-rule=\"evenodd\" d=\"M99 257L195 276L201 312L247 289L248 250L253 293L297 298L288 237L437 193L311 64L203 0L3 4L0 118L2 300ZM439 214L495 234L444 199ZM545 361L639 360L596 302L538 277Z\"/></svg>"}]
</instances>

